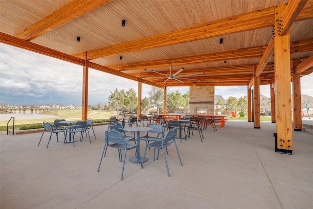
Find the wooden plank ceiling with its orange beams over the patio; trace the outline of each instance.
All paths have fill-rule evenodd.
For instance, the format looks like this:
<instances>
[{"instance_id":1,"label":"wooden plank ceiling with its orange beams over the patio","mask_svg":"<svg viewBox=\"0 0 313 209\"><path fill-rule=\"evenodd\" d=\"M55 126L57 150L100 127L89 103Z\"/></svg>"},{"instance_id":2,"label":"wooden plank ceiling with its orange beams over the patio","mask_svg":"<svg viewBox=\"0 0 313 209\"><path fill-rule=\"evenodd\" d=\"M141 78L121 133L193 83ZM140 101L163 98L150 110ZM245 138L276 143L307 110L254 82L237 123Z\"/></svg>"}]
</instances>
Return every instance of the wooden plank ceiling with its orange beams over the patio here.
<instances>
[{"instance_id":1,"label":"wooden plank ceiling with its orange beams over the patio","mask_svg":"<svg viewBox=\"0 0 313 209\"><path fill-rule=\"evenodd\" d=\"M274 80L281 3L0 0L0 42L157 87L248 85L255 75L263 85ZM289 4L282 33L290 28L291 71L303 76L313 71L313 0Z\"/></svg>"}]
</instances>

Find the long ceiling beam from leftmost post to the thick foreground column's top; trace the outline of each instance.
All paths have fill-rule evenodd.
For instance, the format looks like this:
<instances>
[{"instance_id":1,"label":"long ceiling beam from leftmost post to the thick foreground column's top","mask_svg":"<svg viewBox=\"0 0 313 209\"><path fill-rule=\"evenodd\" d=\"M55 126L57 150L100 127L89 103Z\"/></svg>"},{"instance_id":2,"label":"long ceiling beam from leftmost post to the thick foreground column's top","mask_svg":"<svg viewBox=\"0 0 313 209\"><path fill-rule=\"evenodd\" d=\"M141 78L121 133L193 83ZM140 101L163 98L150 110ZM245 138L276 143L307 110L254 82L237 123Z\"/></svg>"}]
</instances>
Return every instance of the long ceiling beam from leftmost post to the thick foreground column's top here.
<instances>
[{"instance_id":1,"label":"long ceiling beam from leftmost post to the thick foreground column's top","mask_svg":"<svg viewBox=\"0 0 313 209\"><path fill-rule=\"evenodd\" d=\"M313 0L309 0L309 2L304 6L296 19L297 21L313 18L311 7L312 2ZM274 7L269 7L263 10L249 12L243 15L237 15L210 23L203 23L127 43L91 50L87 52L87 59L97 59L105 56L169 46L269 27L274 25L274 21ZM84 52L75 54L74 56L84 58Z\"/></svg>"}]
</instances>

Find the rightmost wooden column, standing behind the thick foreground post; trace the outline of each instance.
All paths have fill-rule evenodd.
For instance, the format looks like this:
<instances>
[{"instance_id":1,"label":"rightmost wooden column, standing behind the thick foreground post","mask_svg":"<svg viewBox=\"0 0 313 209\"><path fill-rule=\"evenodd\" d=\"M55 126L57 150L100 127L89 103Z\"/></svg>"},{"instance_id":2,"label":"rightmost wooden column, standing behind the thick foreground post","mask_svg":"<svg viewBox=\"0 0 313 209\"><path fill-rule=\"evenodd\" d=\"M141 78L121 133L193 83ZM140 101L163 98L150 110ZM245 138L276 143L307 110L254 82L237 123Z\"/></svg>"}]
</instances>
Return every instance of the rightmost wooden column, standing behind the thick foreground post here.
<instances>
[{"instance_id":1,"label":"rightmost wooden column, standing behind the thick foreground post","mask_svg":"<svg viewBox=\"0 0 313 209\"><path fill-rule=\"evenodd\" d=\"M292 75L293 130L302 131L300 75Z\"/></svg>"}]
</instances>

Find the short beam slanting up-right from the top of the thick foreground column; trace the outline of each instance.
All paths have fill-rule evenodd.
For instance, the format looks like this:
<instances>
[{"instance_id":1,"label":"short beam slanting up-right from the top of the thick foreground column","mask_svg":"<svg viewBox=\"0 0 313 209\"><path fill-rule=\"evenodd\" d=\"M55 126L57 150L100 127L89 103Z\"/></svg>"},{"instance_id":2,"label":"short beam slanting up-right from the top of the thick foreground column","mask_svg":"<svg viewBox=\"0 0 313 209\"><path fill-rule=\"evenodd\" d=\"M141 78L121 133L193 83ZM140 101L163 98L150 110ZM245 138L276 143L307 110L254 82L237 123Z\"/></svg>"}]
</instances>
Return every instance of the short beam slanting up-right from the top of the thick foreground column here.
<instances>
[{"instance_id":1,"label":"short beam slanting up-right from the top of the thick foreground column","mask_svg":"<svg viewBox=\"0 0 313 209\"><path fill-rule=\"evenodd\" d=\"M281 32L278 34L279 36L284 36L288 33L292 23L296 20L307 1L308 0L288 1L288 6L286 7L283 15Z\"/></svg>"}]
</instances>

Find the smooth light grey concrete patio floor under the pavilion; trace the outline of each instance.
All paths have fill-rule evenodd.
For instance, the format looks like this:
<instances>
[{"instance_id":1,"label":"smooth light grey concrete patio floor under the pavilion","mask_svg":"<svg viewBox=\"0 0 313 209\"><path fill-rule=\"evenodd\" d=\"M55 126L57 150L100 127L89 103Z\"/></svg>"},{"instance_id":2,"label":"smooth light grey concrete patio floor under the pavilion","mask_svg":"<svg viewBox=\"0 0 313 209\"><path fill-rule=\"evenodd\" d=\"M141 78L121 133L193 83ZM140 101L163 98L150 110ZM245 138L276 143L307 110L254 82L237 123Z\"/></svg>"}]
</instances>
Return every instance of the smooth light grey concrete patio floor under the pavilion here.
<instances>
[{"instance_id":1,"label":"smooth light grey concrete patio floor under the pavilion","mask_svg":"<svg viewBox=\"0 0 313 209\"><path fill-rule=\"evenodd\" d=\"M293 132L293 155L278 154L275 124L228 121L175 146L153 161L147 151L143 169L139 163L122 163L108 148L97 172L107 125L94 126L96 139L49 147L45 133L0 136L1 209L312 209L313 135ZM62 137L60 137L61 139ZM61 139L62 140L62 139ZM144 153L141 141L141 154ZM127 152L127 159L135 155Z\"/></svg>"}]
</instances>

